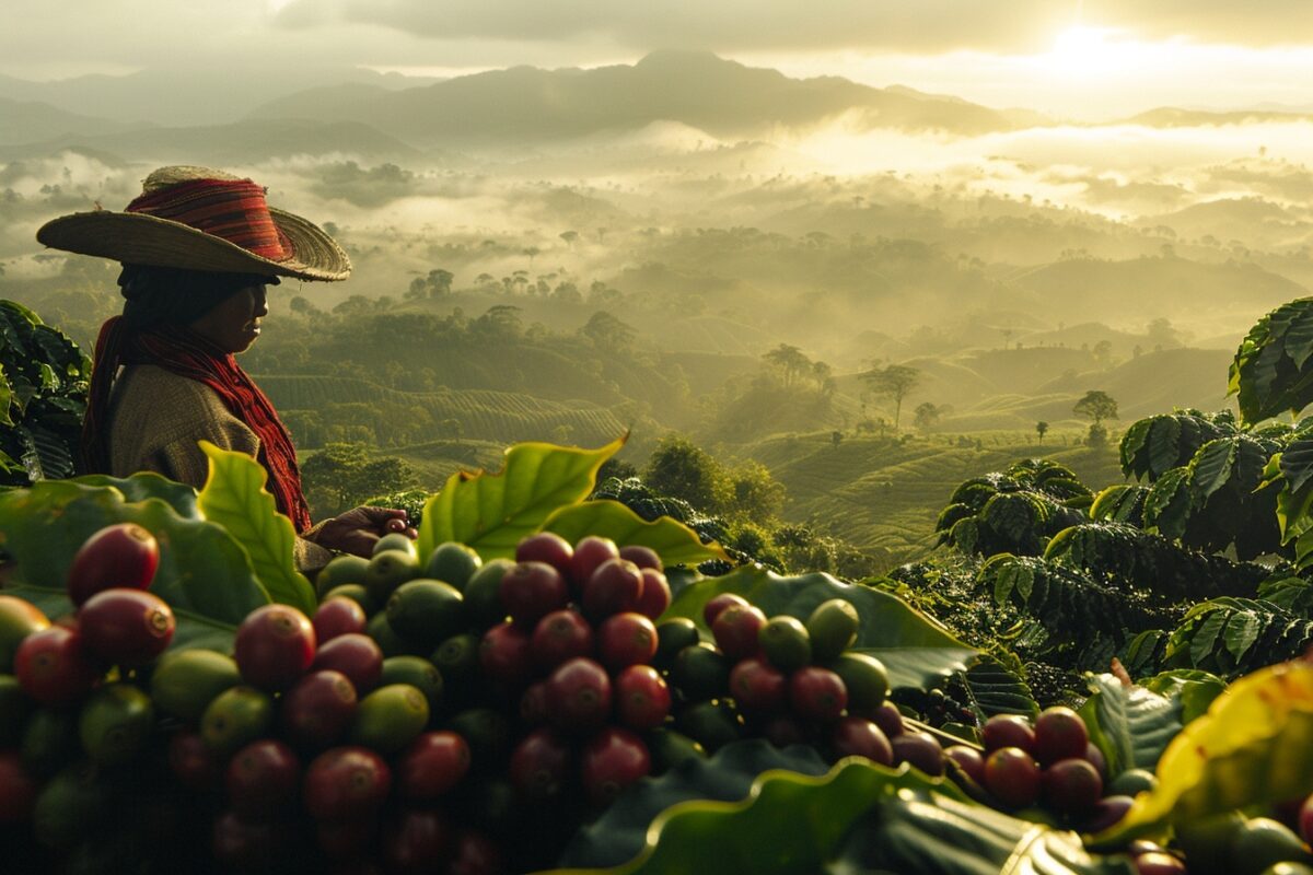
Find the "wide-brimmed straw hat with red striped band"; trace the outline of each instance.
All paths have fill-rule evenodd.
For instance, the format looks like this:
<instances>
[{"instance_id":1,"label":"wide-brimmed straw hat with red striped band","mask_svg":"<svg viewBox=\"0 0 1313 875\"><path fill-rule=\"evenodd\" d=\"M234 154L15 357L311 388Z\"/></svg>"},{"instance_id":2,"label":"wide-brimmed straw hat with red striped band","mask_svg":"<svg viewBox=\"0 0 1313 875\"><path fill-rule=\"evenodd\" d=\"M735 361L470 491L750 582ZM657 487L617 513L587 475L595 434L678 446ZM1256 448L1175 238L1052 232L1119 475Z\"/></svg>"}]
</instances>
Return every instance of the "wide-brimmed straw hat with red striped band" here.
<instances>
[{"instance_id":1,"label":"wide-brimmed straw hat with red striped band","mask_svg":"<svg viewBox=\"0 0 1313 875\"><path fill-rule=\"evenodd\" d=\"M123 264L336 281L351 260L318 226L265 203L264 189L204 167L163 167L123 213L47 222L37 240Z\"/></svg>"}]
</instances>

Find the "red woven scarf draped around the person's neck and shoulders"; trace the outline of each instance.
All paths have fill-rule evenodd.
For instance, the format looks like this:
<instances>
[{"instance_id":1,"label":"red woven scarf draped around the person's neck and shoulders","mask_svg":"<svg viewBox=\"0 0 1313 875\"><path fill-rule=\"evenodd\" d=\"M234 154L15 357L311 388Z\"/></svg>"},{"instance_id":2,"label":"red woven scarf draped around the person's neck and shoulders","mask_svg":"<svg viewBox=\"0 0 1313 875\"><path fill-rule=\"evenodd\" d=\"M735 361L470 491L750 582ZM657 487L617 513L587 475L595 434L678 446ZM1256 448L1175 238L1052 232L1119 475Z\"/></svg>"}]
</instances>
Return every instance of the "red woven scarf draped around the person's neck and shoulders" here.
<instances>
[{"instance_id":1,"label":"red woven scarf draped around the person's neck and shoulders","mask_svg":"<svg viewBox=\"0 0 1313 875\"><path fill-rule=\"evenodd\" d=\"M251 382L236 358L221 352L189 328L147 328L130 333L122 316L105 321L96 340L96 367L91 378L91 397L83 422L83 455L89 471L109 471L105 424L110 388L119 365L155 365L167 371L205 383L260 438L256 460L269 472L265 487L278 510L291 519L298 533L310 527L310 508L301 493L301 468L291 436L273 404Z\"/></svg>"}]
</instances>

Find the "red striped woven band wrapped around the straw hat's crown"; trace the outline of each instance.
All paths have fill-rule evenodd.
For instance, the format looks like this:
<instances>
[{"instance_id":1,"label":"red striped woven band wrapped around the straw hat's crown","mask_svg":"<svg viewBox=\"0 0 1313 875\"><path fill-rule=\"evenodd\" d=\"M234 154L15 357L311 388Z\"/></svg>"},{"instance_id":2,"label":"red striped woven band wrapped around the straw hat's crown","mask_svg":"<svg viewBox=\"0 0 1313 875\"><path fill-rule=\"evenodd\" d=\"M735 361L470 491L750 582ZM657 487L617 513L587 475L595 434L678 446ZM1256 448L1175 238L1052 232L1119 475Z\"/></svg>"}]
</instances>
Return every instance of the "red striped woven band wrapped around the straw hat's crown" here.
<instances>
[{"instance_id":1,"label":"red striped woven band wrapped around the straw hat's crown","mask_svg":"<svg viewBox=\"0 0 1313 875\"><path fill-rule=\"evenodd\" d=\"M127 213L158 219L223 237L247 252L286 261L291 243L274 224L264 189L251 180L190 180L140 195Z\"/></svg>"}]
</instances>

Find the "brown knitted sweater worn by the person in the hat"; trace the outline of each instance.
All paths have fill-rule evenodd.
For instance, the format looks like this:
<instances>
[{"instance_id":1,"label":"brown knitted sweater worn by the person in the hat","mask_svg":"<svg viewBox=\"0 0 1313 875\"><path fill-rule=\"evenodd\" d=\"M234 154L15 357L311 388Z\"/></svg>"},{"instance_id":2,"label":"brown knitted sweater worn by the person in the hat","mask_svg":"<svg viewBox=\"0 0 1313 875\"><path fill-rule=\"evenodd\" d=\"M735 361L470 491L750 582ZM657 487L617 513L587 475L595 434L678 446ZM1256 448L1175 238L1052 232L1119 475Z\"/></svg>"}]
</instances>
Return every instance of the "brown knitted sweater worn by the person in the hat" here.
<instances>
[{"instance_id":1,"label":"brown knitted sweater worn by the person in the hat","mask_svg":"<svg viewBox=\"0 0 1313 875\"><path fill-rule=\"evenodd\" d=\"M114 380L109 408L110 474L155 471L169 480L200 489L210 463L197 441L251 457L260 438L232 416L218 394L204 383L179 376L155 365L129 365ZM297 568L314 572L332 554L314 543L320 526L295 542Z\"/></svg>"}]
</instances>

